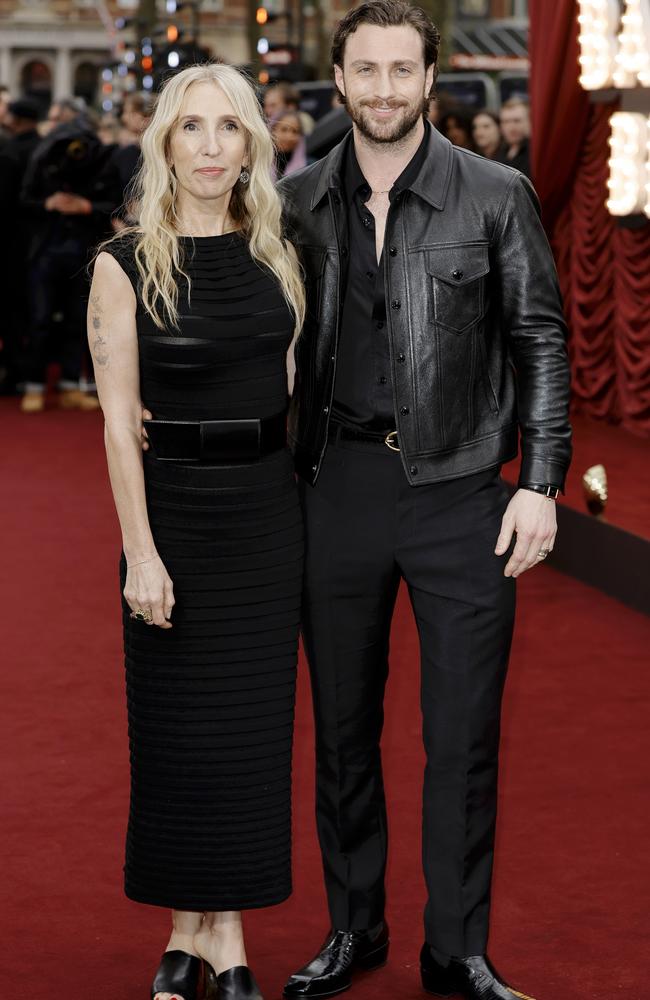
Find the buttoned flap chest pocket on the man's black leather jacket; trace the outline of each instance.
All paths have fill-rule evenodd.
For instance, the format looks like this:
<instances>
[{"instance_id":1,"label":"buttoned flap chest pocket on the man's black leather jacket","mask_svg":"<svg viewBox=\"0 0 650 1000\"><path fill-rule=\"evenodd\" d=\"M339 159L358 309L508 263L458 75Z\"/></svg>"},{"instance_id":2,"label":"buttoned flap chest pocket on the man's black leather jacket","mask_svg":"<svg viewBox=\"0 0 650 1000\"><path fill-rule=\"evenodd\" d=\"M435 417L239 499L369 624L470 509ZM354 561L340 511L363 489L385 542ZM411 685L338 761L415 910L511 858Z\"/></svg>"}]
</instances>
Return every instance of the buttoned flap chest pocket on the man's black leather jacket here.
<instances>
[{"instance_id":1,"label":"buttoned flap chest pocket on the man's black leather jacket","mask_svg":"<svg viewBox=\"0 0 650 1000\"><path fill-rule=\"evenodd\" d=\"M485 309L486 246L442 246L426 251L434 320L456 333L479 321Z\"/></svg>"}]
</instances>

